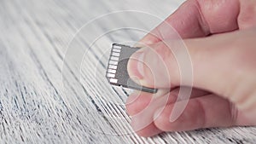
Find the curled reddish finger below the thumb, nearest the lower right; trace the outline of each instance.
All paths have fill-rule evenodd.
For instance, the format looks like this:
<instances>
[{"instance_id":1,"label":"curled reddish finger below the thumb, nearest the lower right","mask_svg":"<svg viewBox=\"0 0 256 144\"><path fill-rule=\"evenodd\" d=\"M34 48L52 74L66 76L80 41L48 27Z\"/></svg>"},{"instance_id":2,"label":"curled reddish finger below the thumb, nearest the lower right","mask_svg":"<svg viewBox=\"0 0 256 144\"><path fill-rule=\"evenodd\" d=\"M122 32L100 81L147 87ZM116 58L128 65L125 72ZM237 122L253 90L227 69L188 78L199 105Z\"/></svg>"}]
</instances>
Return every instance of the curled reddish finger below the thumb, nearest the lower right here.
<instances>
[{"instance_id":1,"label":"curled reddish finger below the thumb, nearest the lower right","mask_svg":"<svg viewBox=\"0 0 256 144\"><path fill-rule=\"evenodd\" d=\"M177 102L178 103L178 102ZM154 124L163 131L196 130L211 127L229 127L236 124L236 112L230 102L217 95L207 95L189 100L183 114L170 122L173 104L162 112L155 112Z\"/></svg>"}]
</instances>

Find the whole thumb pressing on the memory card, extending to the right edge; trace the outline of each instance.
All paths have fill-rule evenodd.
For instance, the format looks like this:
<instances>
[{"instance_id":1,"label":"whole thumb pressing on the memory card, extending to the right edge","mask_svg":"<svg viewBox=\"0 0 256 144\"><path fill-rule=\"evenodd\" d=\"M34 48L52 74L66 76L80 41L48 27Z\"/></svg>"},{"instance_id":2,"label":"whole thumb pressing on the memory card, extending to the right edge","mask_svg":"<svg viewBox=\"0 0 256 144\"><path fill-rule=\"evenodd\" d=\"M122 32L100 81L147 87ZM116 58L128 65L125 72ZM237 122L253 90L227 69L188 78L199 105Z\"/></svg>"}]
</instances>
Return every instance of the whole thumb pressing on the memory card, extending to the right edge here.
<instances>
[{"instance_id":1,"label":"whole thumb pressing on the memory card, extending to the right edge","mask_svg":"<svg viewBox=\"0 0 256 144\"><path fill-rule=\"evenodd\" d=\"M186 39L183 45L177 41L155 43L131 55L128 72L131 78L138 78L138 83L148 87L193 86L224 96L238 108L253 110L256 109L254 37L255 29ZM180 49L184 45L189 58ZM186 70L180 67L187 60L191 60L191 70L181 72Z\"/></svg>"}]
</instances>

